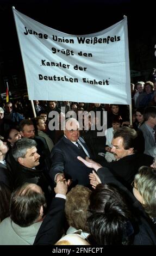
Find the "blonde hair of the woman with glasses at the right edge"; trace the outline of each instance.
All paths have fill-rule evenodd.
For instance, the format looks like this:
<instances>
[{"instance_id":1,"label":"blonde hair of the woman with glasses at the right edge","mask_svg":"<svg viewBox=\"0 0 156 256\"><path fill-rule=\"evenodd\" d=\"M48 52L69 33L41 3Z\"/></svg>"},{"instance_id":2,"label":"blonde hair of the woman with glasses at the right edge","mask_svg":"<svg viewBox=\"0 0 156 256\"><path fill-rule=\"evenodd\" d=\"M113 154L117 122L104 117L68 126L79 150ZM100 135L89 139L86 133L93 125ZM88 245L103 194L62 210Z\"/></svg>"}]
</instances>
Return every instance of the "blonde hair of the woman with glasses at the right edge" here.
<instances>
[{"instance_id":1,"label":"blonde hair of the woman with glasses at the right edge","mask_svg":"<svg viewBox=\"0 0 156 256\"><path fill-rule=\"evenodd\" d=\"M135 175L135 186L141 194L143 208L151 217L156 217L156 169L141 166L138 174Z\"/></svg>"}]
</instances>

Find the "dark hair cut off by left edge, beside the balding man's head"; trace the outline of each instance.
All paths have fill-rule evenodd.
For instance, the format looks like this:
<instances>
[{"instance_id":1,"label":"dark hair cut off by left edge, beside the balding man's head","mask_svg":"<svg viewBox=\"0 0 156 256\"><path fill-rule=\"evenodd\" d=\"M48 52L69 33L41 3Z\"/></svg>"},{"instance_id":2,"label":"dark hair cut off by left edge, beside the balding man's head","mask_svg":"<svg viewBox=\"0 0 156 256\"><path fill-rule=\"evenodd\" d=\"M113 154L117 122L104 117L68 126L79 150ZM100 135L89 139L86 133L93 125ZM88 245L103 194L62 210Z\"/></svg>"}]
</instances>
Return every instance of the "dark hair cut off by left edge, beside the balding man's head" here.
<instances>
[{"instance_id":1,"label":"dark hair cut off by left edge, beside the balding man's head","mask_svg":"<svg viewBox=\"0 0 156 256\"><path fill-rule=\"evenodd\" d=\"M10 215L10 197L11 191L2 181L0 181L0 222Z\"/></svg>"}]
</instances>

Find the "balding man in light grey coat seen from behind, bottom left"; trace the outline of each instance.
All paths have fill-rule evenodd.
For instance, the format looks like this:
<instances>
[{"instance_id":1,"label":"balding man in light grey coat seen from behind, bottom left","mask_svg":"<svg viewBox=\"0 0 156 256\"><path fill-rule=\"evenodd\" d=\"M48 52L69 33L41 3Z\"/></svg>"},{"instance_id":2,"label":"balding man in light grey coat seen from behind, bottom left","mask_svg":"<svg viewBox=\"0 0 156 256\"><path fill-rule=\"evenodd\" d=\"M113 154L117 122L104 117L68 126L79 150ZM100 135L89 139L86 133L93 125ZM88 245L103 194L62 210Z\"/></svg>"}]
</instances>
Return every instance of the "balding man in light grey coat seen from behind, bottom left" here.
<instances>
[{"instance_id":1,"label":"balding man in light grey coat seen from behind, bottom left","mask_svg":"<svg viewBox=\"0 0 156 256\"><path fill-rule=\"evenodd\" d=\"M0 225L0 245L32 245L42 223L46 199L41 187L25 183L10 200L10 217Z\"/></svg>"}]
</instances>

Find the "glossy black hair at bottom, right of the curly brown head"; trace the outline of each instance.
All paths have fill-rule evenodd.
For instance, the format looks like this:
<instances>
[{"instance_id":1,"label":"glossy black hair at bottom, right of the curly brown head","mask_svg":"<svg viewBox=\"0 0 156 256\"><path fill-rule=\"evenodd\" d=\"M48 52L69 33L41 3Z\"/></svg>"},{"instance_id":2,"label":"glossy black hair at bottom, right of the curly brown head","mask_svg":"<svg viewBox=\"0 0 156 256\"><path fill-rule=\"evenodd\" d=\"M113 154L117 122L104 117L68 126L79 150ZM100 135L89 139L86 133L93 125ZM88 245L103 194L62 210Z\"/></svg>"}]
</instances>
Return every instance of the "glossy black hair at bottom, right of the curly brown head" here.
<instances>
[{"instance_id":1,"label":"glossy black hair at bottom, right of the curly brown head","mask_svg":"<svg viewBox=\"0 0 156 256\"><path fill-rule=\"evenodd\" d=\"M90 234L97 245L128 245L133 239L132 214L118 189L97 185L90 196Z\"/></svg>"}]
</instances>

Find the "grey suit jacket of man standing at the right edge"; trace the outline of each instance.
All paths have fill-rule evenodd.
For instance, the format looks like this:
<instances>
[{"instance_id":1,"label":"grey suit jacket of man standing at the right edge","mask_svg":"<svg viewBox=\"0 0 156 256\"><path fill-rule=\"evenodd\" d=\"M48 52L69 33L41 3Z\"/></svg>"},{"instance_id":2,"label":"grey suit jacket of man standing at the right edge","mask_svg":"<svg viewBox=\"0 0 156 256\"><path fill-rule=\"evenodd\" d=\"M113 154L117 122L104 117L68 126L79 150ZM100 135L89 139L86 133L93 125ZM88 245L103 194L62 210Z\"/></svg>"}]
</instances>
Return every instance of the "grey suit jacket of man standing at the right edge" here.
<instances>
[{"instance_id":1,"label":"grey suit jacket of man standing at the right edge","mask_svg":"<svg viewBox=\"0 0 156 256\"><path fill-rule=\"evenodd\" d=\"M151 150L153 147L155 147L155 140L154 140L154 137L152 135L151 132L149 132L147 126L145 123L143 123L141 126L140 126L140 130L142 131L143 133L143 137L145 139L145 151L144 153L149 155L149 149Z\"/></svg>"}]
</instances>

